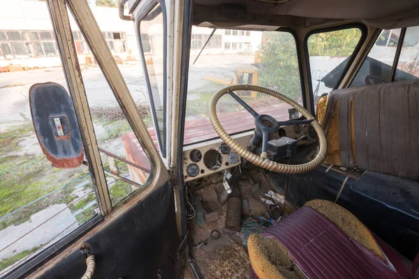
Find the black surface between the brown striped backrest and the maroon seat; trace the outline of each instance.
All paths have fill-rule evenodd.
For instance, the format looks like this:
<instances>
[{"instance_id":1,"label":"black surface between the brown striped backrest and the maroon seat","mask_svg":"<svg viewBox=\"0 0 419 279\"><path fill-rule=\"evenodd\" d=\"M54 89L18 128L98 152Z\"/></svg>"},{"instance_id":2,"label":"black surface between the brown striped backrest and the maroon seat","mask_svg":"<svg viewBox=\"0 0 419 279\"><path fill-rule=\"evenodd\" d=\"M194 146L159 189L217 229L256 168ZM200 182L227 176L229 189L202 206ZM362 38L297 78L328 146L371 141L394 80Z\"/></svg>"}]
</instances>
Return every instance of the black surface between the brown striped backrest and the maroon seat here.
<instances>
[{"instance_id":1,"label":"black surface between the brown striped backrest and the maroon seat","mask_svg":"<svg viewBox=\"0 0 419 279\"><path fill-rule=\"evenodd\" d=\"M346 175L318 167L304 174L270 173L275 188L285 192L288 201L300 207L311 199L335 202ZM366 172L350 177L339 205L351 211L381 239L413 259L419 251L419 183L390 174Z\"/></svg>"}]
</instances>

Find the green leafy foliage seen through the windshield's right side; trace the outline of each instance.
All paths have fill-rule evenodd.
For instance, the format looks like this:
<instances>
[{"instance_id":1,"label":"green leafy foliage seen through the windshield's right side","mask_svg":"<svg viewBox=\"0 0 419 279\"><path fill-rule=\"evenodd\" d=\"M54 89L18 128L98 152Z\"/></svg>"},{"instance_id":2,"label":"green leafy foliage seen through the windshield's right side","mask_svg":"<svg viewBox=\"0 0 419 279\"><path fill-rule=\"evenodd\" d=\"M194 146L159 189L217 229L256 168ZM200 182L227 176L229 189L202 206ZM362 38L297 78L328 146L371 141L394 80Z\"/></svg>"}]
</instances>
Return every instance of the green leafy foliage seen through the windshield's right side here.
<instances>
[{"instance_id":1,"label":"green leafy foliage seen through the windshield's right side","mask_svg":"<svg viewBox=\"0 0 419 279\"><path fill-rule=\"evenodd\" d=\"M295 40L290 33L265 32L260 45L259 84L298 100L301 96Z\"/></svg>"}]
</instances>

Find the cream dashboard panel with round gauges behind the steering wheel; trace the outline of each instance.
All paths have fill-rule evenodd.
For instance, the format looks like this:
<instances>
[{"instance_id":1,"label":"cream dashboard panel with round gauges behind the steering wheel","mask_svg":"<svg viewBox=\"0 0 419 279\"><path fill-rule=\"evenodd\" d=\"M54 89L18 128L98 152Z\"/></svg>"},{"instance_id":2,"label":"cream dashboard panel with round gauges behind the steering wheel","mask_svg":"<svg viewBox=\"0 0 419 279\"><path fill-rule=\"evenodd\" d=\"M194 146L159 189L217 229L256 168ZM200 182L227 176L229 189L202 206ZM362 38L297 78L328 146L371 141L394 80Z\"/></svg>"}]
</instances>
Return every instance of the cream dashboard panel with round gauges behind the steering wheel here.
<instances>
[{"instance_id":1,"label":"cream dashboard panel with round gauges behind the steering wheel","mask_svg":"<svg viewBox=\"0 0 419 279\"><path fill-rule=\"evenodd\" d=\"M297 145L311 144L317 141L317 133L309 124L283 126L279 129L279 137L290 137L294 140L306 136L306 141L299 141ZM246 147L253 131L231 136L238 144ZM241 158L230 149L221 139L210 140L198 144L184 146L183 150L184 181L193 181L204 176L223 172L240 165Z\"/></svg>"}]
</instances>

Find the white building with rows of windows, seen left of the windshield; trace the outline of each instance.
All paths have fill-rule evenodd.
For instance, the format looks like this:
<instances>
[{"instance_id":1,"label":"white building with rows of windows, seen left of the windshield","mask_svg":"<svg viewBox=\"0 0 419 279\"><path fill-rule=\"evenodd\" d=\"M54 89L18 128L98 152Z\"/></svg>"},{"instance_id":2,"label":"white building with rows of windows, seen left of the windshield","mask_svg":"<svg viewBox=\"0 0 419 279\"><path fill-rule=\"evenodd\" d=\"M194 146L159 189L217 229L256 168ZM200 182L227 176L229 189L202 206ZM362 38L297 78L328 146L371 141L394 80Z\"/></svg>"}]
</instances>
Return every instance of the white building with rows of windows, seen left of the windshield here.
<instances>
[{"instance_id":1,"label":"white building with rows of windows, seen left of the windshield","mask_svg":"<svg viewBox=\"0 0 419 279\"><path fill-rule=\"evenodd\" d=\"M24 68L60 66L57 42L45 1L0 0L0 67ZM114 56L139 59L133 22L119 18L117 8L91 5L91 10ZM70 15L80 63L91 63L89 47Z\"/></svg>"}]
</instances>

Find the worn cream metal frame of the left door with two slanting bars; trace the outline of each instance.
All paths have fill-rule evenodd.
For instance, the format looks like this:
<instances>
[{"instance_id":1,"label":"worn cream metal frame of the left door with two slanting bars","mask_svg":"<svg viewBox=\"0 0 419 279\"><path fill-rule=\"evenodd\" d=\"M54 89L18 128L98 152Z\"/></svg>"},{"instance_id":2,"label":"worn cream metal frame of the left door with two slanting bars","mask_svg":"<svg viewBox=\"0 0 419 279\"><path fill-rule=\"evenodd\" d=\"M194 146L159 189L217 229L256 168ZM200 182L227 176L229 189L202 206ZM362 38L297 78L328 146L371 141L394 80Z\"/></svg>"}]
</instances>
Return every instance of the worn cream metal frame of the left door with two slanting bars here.
<instances>
[{"instance_id":1,"label":"worn cream metal frame of the left door with two slanting bars","mask_svg":"<svg viewBox=\"0 0 419 279\"><path fill-rule=\"evenodd\" d=\"M26 276L28 276L27 278L41 277L45 272L73 254L73 252L80 250L80 246L85 239L89 239L103 229L110 227L110 225L123 216L124 213L131 211L131 209L137 206L142 200L149 195L152 195L155 190L161 188L165 183L170 181L168 170L166 169L163 160L161 160L156 146L154 146L154 142L148 133L145 123L142 121L142 117L128 90L128 86L126 86L124 78L119 72L117 63L115 62L115 59L113 59L112 53L103 38L101 30L98 27L87 1L47 0L46 2L57 43L59 45L64 75L66 77L71 98L73 99L78 122L80 123L80 132L82 133L87 160L89 161L89 169L94 180L94 187L103 221L101 223L89 223L90 226L84 226L84 232L78 232L78 235L68 235L66 237L66 243L69 243L67 247L57 247L55 250L51 250L49 255L45 255L42 259L38 257L29 259L29 262L17 267L15 271L8 274L8 276L13 276L17 273L21 275L22 273L26 273ZM120 204L113 210L112 205L110 204L108 186L106 184L101 158L99 156L96 135L94 134L93 123L91 121L91 114L87 103L86 92L84 90L82 73L78 63L67 8L73 14L75 22L78 24L87 44L91 48L91 52L94 54L98 66L101 68L105 79L108 81L128 123L130 123L133 133L138 138L141 146L143 146L152 165L151 178L145 185L145 188L138 193L133 194L133 196L127 199L124 204ZM71 243L71 241L73 241L73 243ZM52 253L54 253L54 256L52 256ZM43 264L42 266L41 263ZM36 266L39 266L38 269L32 272L31 270Z\"/></svg>"}]
</instances>

